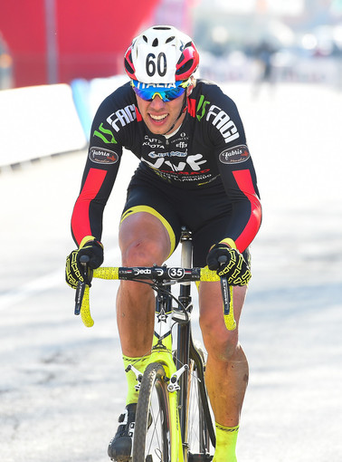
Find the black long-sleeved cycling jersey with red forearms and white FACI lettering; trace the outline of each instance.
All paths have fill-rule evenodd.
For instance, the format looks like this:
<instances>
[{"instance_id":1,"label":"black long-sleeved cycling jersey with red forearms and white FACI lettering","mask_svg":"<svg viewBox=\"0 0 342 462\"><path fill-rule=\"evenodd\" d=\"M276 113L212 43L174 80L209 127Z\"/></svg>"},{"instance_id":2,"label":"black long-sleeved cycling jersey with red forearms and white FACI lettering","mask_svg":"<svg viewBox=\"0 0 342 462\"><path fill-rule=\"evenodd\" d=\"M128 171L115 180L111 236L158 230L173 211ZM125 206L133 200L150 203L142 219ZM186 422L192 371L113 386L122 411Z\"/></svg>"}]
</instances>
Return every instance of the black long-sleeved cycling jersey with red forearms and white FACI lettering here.
<instances>
[{"instance_id":1,"label":"black long-sleeved cycling jersey with red forearms and white FACI lettering","mask_svg":"<svg viewBox=\"0 0 342 462\"><path fill-rule=\"evenodd\" d=\"M261 206L252 158L234 102L213 82L197 80L185 120L172 136L147 129L130 83L101 104L92 123L81 193L71 219L77 244L84 236L100 240L103 209L119 170L122 149L140 163L138 177L173 188L225 192L232 213L227 229L244 250L261 224Z\"/></svg>"}]
</instances>

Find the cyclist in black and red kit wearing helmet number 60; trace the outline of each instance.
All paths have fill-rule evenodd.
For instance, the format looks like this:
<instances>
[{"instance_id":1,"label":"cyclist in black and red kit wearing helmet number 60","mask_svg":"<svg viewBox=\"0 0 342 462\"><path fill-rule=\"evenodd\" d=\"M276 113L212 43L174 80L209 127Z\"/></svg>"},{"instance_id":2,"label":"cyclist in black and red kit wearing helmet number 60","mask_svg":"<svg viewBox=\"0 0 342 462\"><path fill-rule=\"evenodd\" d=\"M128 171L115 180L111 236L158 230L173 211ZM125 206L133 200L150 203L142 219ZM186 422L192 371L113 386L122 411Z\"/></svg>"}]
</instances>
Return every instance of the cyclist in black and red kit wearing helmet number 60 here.
<instances>
[{"instance_id":1,"label":"cyclist in black and red kit wearing helmet number 60","mask_svg":"<svg viewBox=\"0 0 342 462\"><path fill-rule=\"evenodd\" d=\"M124 65L130 82L100 104L93 120L71 217L78 249L67 257L66 279L72 287L82 280L81 255L90 256L92 268L103 262L103 209L126 148L140 163L119 226L122 265L162 265L175 251L181 226L187 226L194 265L207 264L234 285L239 322L251 277L248 246L261 224L261 205L237 108L216 84L195 80L198 63L192 39L172 26L150 27L129 46ZM219 265L220 255L228 257L225 265ZM248 363L238 329L228 332L224 326L220 283L201 283L198 290L208 352L205 379L216 425L214 462L232 462ZM134 362L143 371L154 330L152 289L121 282L117 320L125 369ZM138 401L132 371L127 379L126 409L108 449L119 462L131 456Z\"/></svg>"}]
</instances>

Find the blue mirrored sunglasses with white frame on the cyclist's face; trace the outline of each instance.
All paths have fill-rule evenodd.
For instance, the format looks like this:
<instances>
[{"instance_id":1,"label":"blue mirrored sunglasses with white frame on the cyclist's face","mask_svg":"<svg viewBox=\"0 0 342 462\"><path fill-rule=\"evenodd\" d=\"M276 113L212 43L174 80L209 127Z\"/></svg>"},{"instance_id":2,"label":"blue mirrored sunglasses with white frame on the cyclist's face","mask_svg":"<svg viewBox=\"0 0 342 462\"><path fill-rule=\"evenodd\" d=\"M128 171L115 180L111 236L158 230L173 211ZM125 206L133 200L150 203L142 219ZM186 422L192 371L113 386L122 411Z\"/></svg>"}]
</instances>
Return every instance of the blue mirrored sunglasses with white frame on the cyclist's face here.
<instances>
[{"instance_id":1,"label":"blue mirrored sunglasses with white frame on the cyclist's face","mask_svg":"<svg viewBox=\"0 0 342 462\"><path fill-rule=\"evenodd\" d=\"M175 86L166 87L163 85L152 85L138 81L132 81L135 93L144 101L152 101L158 95L165 102L176 100L184 94L186 87L190 84L190 79L184 82L176 82Z\"/></svg>"}]
</instances>

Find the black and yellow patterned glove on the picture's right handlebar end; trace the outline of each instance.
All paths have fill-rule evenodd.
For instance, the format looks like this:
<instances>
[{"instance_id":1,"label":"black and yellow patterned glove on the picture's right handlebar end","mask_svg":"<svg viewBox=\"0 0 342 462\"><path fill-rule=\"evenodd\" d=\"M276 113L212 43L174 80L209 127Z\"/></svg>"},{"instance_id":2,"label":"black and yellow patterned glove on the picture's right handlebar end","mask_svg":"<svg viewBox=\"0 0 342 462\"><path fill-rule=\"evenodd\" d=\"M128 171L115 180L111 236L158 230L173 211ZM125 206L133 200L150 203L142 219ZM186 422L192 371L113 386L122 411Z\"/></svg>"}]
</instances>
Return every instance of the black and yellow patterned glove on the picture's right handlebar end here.
<instances>
[{"instance_id":1,"label":"black and yellow patterned glove on the picture's right handlebar end","mask_svg":"<svg viewBox=\"0 0 342 462\"><path fill-rule=\"evenodd\" d=\"M225 263L221 263L222 260ZM206 257L206 263L219 276L226 276L230 285L246 285L252 277L250 267L236 249L233 239L223 239L213 245Z\"/></svg>"}]
</instances>

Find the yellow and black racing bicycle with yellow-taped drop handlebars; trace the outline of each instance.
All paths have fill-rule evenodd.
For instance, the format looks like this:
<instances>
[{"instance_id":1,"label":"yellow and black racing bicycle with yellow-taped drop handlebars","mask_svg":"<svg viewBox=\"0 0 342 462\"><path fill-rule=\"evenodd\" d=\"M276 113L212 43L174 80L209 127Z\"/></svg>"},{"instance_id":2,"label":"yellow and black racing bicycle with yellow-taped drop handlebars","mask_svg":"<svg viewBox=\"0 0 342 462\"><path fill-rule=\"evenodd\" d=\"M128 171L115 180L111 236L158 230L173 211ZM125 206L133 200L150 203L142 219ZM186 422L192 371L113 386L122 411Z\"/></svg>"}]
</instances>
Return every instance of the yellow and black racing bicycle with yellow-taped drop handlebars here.
<instances>
[{"instance_id":1,"label":"yellow and black racing bicycle with yellow-taped drop handlebars","mask_svg":"<svg viewBox=\"0 0 342 462\"><path fill-rule=\"evenodd\" d=\"M135 373L139 390L133 462L209 462L213 458L215 432L204 382L204 350L195 344L191 332L191 282L221 280L229 330L236 326L233 287L214 271L192 268L192 237L186 228L182 228L181 245L181 267L100 267L91 275L87 257L81 257L90 278L137 281L156 291L155 332L147 367L143 373L134 364L126 370ZM180 284L178 297L172 294L173 284ZM75 314L81 313L83 323L92 326L88 285L78 284L75 302Z\"/></svg>"}]
</instances>

